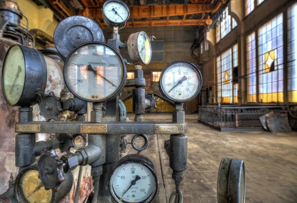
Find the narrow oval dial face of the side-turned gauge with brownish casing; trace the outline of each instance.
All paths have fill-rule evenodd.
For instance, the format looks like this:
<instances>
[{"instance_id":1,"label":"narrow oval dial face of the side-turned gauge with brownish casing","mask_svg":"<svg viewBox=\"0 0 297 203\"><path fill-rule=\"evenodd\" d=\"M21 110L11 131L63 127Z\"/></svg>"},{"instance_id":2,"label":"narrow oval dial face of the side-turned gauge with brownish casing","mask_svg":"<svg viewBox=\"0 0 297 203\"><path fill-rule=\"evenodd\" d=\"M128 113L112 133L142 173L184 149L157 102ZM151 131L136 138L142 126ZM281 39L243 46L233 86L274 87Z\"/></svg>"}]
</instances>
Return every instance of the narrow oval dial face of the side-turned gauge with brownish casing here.
<instances>
[{"instance_id":1,"label":"narrow oval dial face of the side-turned gauge with brownish casing","mask_svg":"<svg viewBox=\"0 0 297 203\"><path fill-rule=\"evenodd\" d=\"M148 36L145 32L140 32L137 38L137 49L144 64L149 64L151 59L151 47Z\"/></svg>"}]
</instances>

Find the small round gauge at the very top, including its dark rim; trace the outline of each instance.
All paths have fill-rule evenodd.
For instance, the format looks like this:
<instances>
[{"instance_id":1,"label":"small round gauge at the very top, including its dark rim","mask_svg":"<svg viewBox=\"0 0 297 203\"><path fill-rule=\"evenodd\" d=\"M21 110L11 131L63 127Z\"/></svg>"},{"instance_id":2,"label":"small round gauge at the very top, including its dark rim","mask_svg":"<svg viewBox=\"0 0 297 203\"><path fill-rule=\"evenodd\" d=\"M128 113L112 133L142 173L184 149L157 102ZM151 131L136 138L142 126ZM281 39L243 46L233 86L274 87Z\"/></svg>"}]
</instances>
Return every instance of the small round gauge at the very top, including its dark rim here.
<instances>
[{"instance_id":1,"label":"small round gauge at the very top, including its dark rim","mask_svg":"<svg viewBox=\"0 0 297 203\"><path fill-rule=\"evenodd\" d=\"M102 11L103 21L110 28L113 26L117 26L119 29L125 27L130 15L128 6L121 0L105 1Z\"/></svg>"}]
</instances>

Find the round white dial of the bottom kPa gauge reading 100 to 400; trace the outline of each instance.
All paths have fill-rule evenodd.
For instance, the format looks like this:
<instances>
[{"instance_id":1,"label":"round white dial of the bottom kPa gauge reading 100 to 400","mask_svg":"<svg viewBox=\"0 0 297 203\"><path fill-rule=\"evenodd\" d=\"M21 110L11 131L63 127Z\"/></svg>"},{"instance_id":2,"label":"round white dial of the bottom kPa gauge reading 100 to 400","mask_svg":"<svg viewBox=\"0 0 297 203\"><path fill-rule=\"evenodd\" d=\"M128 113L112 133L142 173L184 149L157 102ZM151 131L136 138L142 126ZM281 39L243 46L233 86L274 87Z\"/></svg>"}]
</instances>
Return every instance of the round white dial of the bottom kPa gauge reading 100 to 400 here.
<instances>
[{"instance_id":1,"label":"round white dial of the bottom kPa gauge reading 100 to 400","mask_svg":"<svg viewBox=\"0 0 297 203\"><path fill-rule=\"evenodd\" d=\"M145 164L126 162L114 170L111 187L118 203L147 203L156 192L156 179Z\"/></svg>"}]
</instances>

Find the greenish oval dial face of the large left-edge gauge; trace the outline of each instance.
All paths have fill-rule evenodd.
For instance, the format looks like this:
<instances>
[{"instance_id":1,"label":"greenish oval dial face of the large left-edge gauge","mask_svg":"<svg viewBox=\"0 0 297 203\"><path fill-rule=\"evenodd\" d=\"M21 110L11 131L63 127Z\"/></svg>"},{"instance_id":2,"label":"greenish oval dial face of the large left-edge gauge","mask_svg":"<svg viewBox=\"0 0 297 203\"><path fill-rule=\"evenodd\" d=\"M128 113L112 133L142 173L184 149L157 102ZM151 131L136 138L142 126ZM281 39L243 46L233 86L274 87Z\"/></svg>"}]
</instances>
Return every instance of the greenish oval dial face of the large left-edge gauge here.
<instances>
[{"instance_id":1,"label":"greenish oval dial face of the large left-edge gauge","mask_svg":"<svg viewBox=\"0 0 297 203\"><path fill-rule=\"evenodd\" d=\"M13 106L19 101L25 83L25 62L19 46L13 46L7 53L2 77L6 101Z\"/></svg>"}]
</instances>

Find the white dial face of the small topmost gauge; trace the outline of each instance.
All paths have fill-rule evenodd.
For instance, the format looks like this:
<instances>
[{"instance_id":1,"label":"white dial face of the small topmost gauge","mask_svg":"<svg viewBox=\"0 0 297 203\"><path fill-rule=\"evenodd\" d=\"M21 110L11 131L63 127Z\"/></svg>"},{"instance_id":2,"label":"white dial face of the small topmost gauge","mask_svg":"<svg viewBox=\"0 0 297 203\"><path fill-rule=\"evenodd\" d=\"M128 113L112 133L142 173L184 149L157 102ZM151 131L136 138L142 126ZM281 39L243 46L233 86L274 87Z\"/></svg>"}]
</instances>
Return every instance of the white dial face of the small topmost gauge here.
<instances>
[{"instance_id":1,"label":"white dial face of the small topmost gauge","mask_svg":"<svg viewBox=\"0 0 297 203\"><path fill-rule=\"evenodd\" d=\"M129 18L129 10L124 2L109 1L104 6L104 15L113 23L123 23Z\"/></svg>"}]
</instances>

